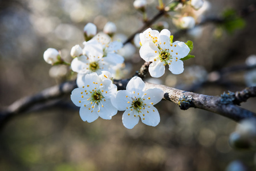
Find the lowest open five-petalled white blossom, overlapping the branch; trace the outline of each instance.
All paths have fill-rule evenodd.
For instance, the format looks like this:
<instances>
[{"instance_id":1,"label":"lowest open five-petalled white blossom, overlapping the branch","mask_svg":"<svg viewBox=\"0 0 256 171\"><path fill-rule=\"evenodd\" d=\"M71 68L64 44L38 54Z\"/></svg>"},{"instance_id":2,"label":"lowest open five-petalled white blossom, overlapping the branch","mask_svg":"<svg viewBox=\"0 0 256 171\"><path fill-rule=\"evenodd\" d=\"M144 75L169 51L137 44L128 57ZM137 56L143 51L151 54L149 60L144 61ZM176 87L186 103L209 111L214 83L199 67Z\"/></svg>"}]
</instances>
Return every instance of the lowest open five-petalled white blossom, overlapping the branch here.
<instances>
[{"instance_id":1,"label":"lowest open five-petalled white blossom, overlapping the branch","mask_svg":"<svg viewBox=\"0 0 256 171\"><path fill-rule=\"evenodd\" d=\"M126 90L117 91L111 97L114 107L123 113L124 127L132 129L141 118L141 121L155 127L160 122L159 112L153 105L159 103L164 92L159 88L147 89L141 78L135 76L127 84Z\"/></svg>"}]
</instances>

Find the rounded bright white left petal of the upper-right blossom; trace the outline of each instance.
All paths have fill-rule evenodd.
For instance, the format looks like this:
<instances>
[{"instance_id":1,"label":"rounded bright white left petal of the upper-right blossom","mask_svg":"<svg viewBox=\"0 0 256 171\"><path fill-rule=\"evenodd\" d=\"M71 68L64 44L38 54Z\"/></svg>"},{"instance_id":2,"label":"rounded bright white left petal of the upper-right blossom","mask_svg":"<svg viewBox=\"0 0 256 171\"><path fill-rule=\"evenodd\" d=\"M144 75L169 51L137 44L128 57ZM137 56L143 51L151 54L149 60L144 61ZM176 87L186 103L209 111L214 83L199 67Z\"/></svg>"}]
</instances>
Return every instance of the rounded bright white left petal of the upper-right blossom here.
<instances>
[{"instance_id":1,"label":"rounded bright white left petal of the upper-right blossom","mask_svg":"<svg viewBox=\"0 0 256 171\"><path fill-rule=\"evenodd\" d=\"M156 44L145 43L140 47L140 57L146 62L151 62L157 56L159 56L159 49Z\"/></svg>"}]
</instances>

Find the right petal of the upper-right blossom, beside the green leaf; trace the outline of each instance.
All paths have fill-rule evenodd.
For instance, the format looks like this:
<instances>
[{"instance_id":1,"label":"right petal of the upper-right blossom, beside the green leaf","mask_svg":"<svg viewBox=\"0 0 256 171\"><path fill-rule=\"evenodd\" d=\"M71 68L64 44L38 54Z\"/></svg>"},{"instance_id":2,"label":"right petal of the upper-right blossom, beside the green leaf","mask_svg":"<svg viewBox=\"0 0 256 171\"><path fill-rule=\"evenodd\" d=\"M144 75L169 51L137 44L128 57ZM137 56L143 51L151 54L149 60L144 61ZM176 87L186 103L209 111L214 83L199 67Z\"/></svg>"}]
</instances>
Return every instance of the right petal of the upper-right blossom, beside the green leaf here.
<instances>
[{"instance_id":1,"label":"right petal of the upper-right blossom, beside the green leaf","mask_svg":"<svg viewBox=\"0 0 256 171\"><path fill-rule=\"evenodd\" d=\"M176 41L173 42L172 45L172 56L177 56L178 59L181 59L189 54L190 49L184 42ZM178 55L176 53L178 53Z\"/></svg>"}]
</instances>

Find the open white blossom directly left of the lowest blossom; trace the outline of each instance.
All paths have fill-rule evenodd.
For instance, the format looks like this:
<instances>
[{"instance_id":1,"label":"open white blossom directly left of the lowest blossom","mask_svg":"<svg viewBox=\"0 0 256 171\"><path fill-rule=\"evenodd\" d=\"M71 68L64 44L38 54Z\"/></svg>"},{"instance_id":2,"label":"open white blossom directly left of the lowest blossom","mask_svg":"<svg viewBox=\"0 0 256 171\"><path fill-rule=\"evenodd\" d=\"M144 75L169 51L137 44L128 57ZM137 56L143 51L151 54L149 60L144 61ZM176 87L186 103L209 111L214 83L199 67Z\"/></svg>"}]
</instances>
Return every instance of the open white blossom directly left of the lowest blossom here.
<instances>
[{"instance_id":1,"label":"open white blossom directly left of the lowest blossom","mask_svg":"<svg viewBox=\"0 0 256 171\"><path fill-rule=\"evenodd\" d=\"M101 76L95 72L87 74L84 76L84 86L75 88L71 94L72 102L80 107L81 119L88 123L95 121L99 116L109 120L117 113L117 109L111 103L111 96L116 93L117 87L112 80L101 79Z\"/></svg>"}]
</instances>

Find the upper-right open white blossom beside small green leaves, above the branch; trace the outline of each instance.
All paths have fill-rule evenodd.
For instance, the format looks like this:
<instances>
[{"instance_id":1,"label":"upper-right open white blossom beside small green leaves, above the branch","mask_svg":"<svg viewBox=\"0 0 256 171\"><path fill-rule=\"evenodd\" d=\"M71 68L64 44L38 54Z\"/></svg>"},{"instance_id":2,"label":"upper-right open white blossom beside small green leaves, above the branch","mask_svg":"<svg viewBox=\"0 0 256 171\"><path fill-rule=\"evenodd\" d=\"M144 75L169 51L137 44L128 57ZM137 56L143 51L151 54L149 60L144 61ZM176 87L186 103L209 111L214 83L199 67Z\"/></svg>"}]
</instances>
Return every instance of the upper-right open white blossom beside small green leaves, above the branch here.
<instances>
[{"instance_id":1,"label":"upper-right open white blossom beside small green leaves, above the branch","mask_svg":"<svg viewBox=\"0 0 256 171\"><path fill-rule=\"evenodd\" d=\"M165 65L169 66L173 74L181 74L184 68L180 59L189 54L189 47L184 42L170 43L170 31L167 29L162 30L159 36L151 33L149 31L148 35L145 35L140 48L141 58L146 62L152 62L149 65L149 74L159 78L164 75Z\"/></svg>"}]
</instances>

